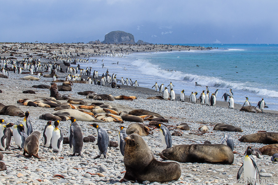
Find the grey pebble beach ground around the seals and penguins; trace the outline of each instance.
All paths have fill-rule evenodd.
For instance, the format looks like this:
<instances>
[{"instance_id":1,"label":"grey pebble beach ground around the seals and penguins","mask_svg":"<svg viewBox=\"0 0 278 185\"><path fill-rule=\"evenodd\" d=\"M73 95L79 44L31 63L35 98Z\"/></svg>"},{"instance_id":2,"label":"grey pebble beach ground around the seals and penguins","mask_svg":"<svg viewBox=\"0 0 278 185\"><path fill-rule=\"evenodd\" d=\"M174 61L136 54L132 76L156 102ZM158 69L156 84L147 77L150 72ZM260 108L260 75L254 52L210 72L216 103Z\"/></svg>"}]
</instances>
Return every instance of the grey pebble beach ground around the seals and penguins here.
<instances>
[{"instance_id":1,"label":"grey pebble beach ground around the seals and penguins","mask_svg":"<svg viewBox=\"0 0 278 185\"><path fill-rule=\"evenodd\" d=\"M0 44L3 46L10 47L20 47L19 44ZM32 49L37 47L37 49ZM49 46L48 46L49 47ZM93 48L94 47L94 48ZM59 46L53 46L52 50L67 50L71 52L77 51L77 53L94 53L94 50L98 52L110 51L115 49L111 45L100 44L98 46L102 50L97 50L95 44L62 44ZM148 46L141 46L138 48L140 52L145 52L144 48ZM149 46L150 47L150 46ZM44 52L45 50L50 50L47 48L47 44L30 44L25 45L23 48L29 48L27 51L29 54L33 54L36 50L40 50L45 56L50 52ZM104 49L103 49L104 48ZM131 48L128 45L119 46L122 50L127 50ZM157 46L152 49L160 51L169 51L173 48L165 49L166 47ZM196 49L196 47L190 47L191 49ZM187 47L177 48L175 50L185 50ZM119 49L120 50L120 49ZM131 51L130 49L128 49ZM4 50L3 50L4 51ZM24 50L26 51L26 50ZM17 60L22 60L28 56L23 54L23 49L18 49ZM151 51L147 51L151 52ZM0 54L2 57L10 57L10 52L2 52ZM34 55L34 54L33 54ZM36 55L36 54L35 54ZM34 55L34 56L35 56ZM131 55L136 55L135 53ZM92 56L98 60L102 60L103 56ZM77 57L78 58L78 57ZM55 63L52 59L47 59L45 57L40 58L40 62ZM65 66L60 63L61 68L65 71ZM82 64L80 64L82 67ZM8 64L11 67L11 64ZM27 71L26 71L27 72ZM104 72L104 71L103 71ZM101 72L102 73L102 72ZM43 74L49 74L44 72ZM53 108L41 108L41 107L29 107L17 104L17 100L29 98L31 100L40 100L49 97L49 89L39 89L32 88L33 85L46 84L50 85L52 78L42 77L39 81L27 81L22 80L24 76L29 74L18 74L9 71L9 78L0 78L0 93L1 101L0 103L4 105L15 105L19 107L23 112L30 112L30 120L33 130L39 130L41 134L43 133L44 126L46 125L45 120L40 120L39 116L44 113L53 113ZM67 73L57 72L59 79L64 80ZM34 75L36 77L36 75ZM87 76L83 76L85 78ZM86 78L85 78L86 79ZM140 82L139 82L140 83ZM155 83L155 82L154 82ZM62 83L57 83L61 85ZM151 87L150 87L151 88ZM24 90L34 90L36 94L23 94ZM208 140L212 144L220 143L221 138L224 134L230 134L234 139L234 163L232 165L221 165L221 164L211 164L211 163L179 163L182 169L182 175L178 181L171 181L168 184L198 184L198 185L221 185L221 184L240 184L236 183L236 175L239 167L241 167L244 152L247 146L253 146L253 148L261 148L264 144L259 143L243 143L239 142L238 139L242 135L253 134L260 130L267 132L277 132L277 121L278 114L276 111L264 111L263 113L248 113L241 112L239 108L241 105L235 105L235 109L228 109L227 102L221 101L220 95L217 97L216 106L204 106L200 104L192 104L188 102L180 102L179 96L176 94L175 101L164 101L164 100L151 100L148 97L157 96L158 92L153 89L148 88L134 88L134 86L121 85L121 89L111 88L110 85L98 86L93 84L79 84L74 83L72 86L72 91L70 92L60 92L62 95L69 96L71 99L82 99L88 102L90 105L92 102L102 102L92 99L86 99L86 96L78 95L77 92L80 91L94 91L99 94L111 94L112 96L128 95L136 96L137 99L133 101L115 100L115 101L105 101L107 105L117 108L119 111L126 110L130 111L133 109L145 109L155 113L159 113L163 117L169 120L167 125L176 126L182 122L186 122L190 130L175 130L182 134L181 137L172 136L173 146L181 144L201 144ZM177 92L176 92L177 93ZM199 97L199 96L198 96ZM218 101L219 100L219 101ZM66 100L60 100L61 102L66 102ZM7 123L17 123L20 124L23 121L21 117L11 117L0 115L1 119L4 119ZM131 122L124 121L123 124L116 122L109 123L99 123L100 126L107 130L109 138L111 141L117 142L118 133L120 131L119 126L124 125L128 127ZM234 125L236 127L242 128L243 132L226 132L213 130L214 125L217 123L225 123ZM78 125L82 130L83 137L93 135L97 139L97 131L95 128L88 126L90 122L78 121ZM148 124L148 121L144 121L144 124ZM65 137L68 136L70 121L61 121L60 128ZM207 133L201 133L198 128L207 125L209 131ZM170 132L174 132L170 128ZM153 130L154 134L148 136L142 136L145 142L148 144L150 149L153 151L155 158L159 161L164 161L159 157L159 153L162 151L162 142L160 139L160 133L158 129ZM120 183L120 179L124 177L125 167L123 162L123 156L120 155L120 149L118 147L112 147L111 150L107 152L107 158L103 158L103 155L98 159L93 159L97 153L96 141L94 143L88 142L83 143L82 154L80 157L71 157L72 154L69 145L63 145L63 150L60 153L53 153L52 149L45 148L42 143L42 136L40 138L40 150L39 155L41 159L36 158L24 158L15 152L22 151L18 150L13 138L11 139L11 146L9 151L2 151L4 157L2 162L6 164L7 170L0 171L0 185L1 184L131 184L131 182ZM259 168L262 184L278 184L277 169L278 164L272 163L270 160L271 156L264 155L263 158L255 158L257 167ZM57 176L58 175L58 176ZM59 176L61 175L61 176ZM243 177L242 177L243 180ZM244 180L243 180L244 182ZM133 183L138 184L138 183ZM160 183L151 183L158 185Z\"/></svg>"}]
</instances>

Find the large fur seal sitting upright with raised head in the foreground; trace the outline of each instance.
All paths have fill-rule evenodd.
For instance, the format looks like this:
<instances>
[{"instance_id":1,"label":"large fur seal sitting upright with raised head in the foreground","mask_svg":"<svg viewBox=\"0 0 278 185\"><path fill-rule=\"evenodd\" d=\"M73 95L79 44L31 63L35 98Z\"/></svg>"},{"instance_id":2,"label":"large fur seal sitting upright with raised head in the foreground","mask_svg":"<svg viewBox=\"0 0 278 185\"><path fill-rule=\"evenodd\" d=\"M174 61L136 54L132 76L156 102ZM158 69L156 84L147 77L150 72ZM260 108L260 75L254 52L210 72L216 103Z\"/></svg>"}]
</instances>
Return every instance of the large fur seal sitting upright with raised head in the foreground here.
<instances>
[{"instance_id":1,"label":"large fur seal sitting upright with raised head in the foreground","mask_svg":"<svg viewBox=\"0 0 278 185\"><path fill-rule=\"evenodd\" d=\"M160 162L154 158L146 142L138 134L125 139L124 178L120 181L166 182L178 180L181 168L177 162Z\"/></svg>"}]
</instances>

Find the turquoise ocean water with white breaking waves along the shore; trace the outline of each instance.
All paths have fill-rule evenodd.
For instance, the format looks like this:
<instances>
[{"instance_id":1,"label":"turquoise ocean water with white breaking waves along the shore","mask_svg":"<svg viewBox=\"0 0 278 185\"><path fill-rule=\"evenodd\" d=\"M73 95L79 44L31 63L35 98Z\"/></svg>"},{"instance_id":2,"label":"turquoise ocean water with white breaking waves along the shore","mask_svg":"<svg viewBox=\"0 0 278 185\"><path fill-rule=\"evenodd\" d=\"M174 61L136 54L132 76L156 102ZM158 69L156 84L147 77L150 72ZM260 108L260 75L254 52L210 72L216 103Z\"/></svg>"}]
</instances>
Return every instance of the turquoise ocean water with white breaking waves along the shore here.
<instances>
[{"instance_id":1,"label":"turquoise ocean water with white breaking waves along the shore","mask_svg":"<svg viewBox=\"0 0 278 185\"><path fill-rule=\"evenodd\" d=\"M211 93L219 89L217 100L220 101L222 95L232 88L235 103L243 104L248 97L250 103L256 106L264 98L268 110L278 110L278 44L179 45L219 49L134 52L121 58L104 57L104 68L99 57L97 64L81 66L91 66L98 70L99 75L108 68L110 75L117 74L117 79L131 78L146 88L152 88L155 82L167 86L171 81L175 93L180 94L184 89L188 96L197 91L199 97L207 85ZM119 65L112 64L118 61ZM127 71L123 70L124 67ZM195 82L202 87L195 86Z\"/></svg>"}]
</instances>

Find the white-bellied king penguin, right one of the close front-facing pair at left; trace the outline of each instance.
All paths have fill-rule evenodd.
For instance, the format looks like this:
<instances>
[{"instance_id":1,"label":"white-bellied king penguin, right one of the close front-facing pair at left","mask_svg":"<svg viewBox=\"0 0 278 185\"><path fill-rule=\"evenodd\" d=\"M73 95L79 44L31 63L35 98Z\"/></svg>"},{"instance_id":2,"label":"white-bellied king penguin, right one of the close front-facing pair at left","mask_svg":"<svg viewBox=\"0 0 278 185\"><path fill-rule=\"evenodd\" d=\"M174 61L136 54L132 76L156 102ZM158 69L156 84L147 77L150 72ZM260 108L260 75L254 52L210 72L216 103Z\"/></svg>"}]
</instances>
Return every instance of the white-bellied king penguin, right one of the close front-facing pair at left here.
<instances>
[{"instance_id":1,"label":"white-bellied king penguin, right one of the close front-facing pair at left","mask_svg":"<svg viewBox=\"0 0 278 185\"><path fill-rule=\"evenodd\" d=\"M58 128L59 120L54 121L54 130L52 132L51 148L54 152L61 152L63 149L63 133L62 130Z\"/></svg>"}]
</instances>

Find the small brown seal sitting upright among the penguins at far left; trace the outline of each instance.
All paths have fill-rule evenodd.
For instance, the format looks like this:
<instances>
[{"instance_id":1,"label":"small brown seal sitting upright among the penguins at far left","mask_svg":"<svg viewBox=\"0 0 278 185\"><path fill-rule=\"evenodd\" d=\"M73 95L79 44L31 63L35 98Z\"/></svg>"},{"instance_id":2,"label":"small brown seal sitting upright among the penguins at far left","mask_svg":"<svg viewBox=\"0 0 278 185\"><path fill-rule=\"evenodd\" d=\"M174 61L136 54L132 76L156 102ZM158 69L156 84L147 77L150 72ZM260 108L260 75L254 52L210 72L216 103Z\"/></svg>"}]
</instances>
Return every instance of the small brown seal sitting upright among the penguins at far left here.
<instances>
[{"instance_id":1,"label":"small brown seal sitting upright among the penguins at far left","mask_svg":"<svg viewBox=\"0 0 278 185\"><path fill-rule=\"evenodd\" d=\"M40 158L38 156L38 151L40 149L40 132L39 131L34 131L32 132L24 142L24 151L23 151L23 156L29 158L29 157L35 157L35 158ZM27 156L25 154L28 154Z\"/></svg>"}]
</instances>

